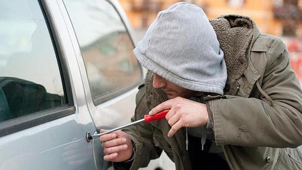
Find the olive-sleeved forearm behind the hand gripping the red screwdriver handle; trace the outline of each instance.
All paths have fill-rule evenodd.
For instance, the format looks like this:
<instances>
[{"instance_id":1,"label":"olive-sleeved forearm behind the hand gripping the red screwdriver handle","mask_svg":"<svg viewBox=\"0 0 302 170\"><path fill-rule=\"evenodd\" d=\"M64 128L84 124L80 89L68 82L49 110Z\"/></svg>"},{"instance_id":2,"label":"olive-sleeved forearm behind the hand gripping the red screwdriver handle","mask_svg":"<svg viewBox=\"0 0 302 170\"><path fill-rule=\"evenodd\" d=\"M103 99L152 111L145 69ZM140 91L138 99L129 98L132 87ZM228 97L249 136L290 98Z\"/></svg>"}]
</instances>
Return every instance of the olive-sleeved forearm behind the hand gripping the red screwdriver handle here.
<instances>
[{"instance_id":1,"label":"olive-sleeved forearm behind the hand gripping the red screwdriver handle","mask_svg":"<svg viewBox=\"0 0 302 170\"><path fill-rule=\"evenodd\" d=\"M297 147L302 145L302 113L282 102L227 96L208 102L217 145Z\"/></svg>"}]
</instances>

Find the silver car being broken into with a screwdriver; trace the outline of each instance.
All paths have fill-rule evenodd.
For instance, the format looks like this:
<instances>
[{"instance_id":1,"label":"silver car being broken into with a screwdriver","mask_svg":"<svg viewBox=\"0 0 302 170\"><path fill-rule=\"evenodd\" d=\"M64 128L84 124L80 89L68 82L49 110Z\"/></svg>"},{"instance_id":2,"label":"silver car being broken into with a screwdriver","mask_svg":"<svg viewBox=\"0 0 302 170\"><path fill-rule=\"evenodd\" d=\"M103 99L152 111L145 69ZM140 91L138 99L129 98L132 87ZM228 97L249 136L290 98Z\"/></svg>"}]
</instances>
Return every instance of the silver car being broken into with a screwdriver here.
<instances>
[{"instance_id":1,"label":"silver car being broken into with a screwdriver","mask_svg":"<svg viewBox=\"0 0 302 170\"><path fill-rule=\"evenodd\" d=\"M109 168L87 134L129 123L144 77L118 1L3 0L0 25L0 170Z\"/></svg>"}]
</instances>

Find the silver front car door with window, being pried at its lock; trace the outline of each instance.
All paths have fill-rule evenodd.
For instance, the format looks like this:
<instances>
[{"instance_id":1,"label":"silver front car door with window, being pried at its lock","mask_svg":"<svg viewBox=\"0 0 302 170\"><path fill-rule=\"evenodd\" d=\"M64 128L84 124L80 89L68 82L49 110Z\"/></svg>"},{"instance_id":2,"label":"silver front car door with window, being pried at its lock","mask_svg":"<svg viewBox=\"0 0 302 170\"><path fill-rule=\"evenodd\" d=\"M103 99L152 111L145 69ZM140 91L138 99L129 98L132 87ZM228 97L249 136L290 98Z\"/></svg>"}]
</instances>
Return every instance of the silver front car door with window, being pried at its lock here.
<instances>
[{"instance_id":1,"label":"silver front car door with window, being pried at its lock","mask_svg":"<svg viewBox=\"0 0 302 170\"><path fill-rule=\"evenodd\" d=\"M0 2L0 170L94 170L95 131L57 1Z\"/></svg>"}]
</instances>

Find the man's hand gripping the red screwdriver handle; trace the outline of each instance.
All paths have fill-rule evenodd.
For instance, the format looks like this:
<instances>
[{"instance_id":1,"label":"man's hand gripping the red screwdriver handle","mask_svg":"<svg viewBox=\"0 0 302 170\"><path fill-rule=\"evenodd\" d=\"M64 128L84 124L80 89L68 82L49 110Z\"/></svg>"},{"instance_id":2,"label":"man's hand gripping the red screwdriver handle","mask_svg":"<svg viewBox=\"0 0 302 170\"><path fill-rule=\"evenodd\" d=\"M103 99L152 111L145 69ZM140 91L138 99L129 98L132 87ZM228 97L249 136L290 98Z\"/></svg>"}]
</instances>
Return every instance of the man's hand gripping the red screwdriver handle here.
<instances>
[{"instance_id":1,"label":"man's hand gripping the red screwdriver handle","mask_svg":"<svg viewBox=\"0 0 302 170\"><path fill-rule=\"evenodd\" d=\"M168 137L173 136L182 127L201 127L208 123L206 104L183 97L167 100L153 108L149 114L154 115L166 109L171 109L166 114L166 119L171 126Z\"/></svg>"}]
</instances>

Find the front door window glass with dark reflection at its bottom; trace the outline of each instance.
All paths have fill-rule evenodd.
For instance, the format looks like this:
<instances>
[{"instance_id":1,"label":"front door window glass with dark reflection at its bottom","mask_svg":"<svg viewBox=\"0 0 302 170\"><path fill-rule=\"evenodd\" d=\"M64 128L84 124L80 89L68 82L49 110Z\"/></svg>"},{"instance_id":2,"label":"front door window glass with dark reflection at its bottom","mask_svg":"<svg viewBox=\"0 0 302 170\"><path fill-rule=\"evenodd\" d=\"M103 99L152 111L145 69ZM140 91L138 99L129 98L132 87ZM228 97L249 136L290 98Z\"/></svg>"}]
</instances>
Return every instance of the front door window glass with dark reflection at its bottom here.
<instances>
[{"instance_id":1,"label":"front door window glass with dark reflection at its bottom","mask_svg":"<svg viewBox=\"0 0 302 170\"><path fill-rule=\"evenodd\" d=\"M66 104L38 0L2 0L0 25L0 122Z\"/></svg>"}]
</instances>

